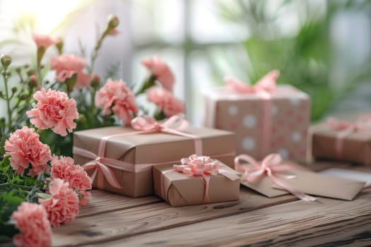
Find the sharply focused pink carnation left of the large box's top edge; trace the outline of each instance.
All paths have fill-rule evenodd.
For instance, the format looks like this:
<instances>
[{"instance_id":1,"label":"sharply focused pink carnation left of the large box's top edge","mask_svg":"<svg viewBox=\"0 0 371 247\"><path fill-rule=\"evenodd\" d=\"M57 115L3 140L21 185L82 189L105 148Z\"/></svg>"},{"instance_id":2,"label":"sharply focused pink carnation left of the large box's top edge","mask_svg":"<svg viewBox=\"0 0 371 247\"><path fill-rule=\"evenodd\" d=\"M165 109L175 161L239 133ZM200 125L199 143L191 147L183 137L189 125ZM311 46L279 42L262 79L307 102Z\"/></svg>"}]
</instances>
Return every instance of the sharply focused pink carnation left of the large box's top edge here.
<instances>
[{"instance_id":1,"label":"sharply focused pink carnation left of the large box's top edge","mask_svg":"<svg viewBox=\"0 0 371 247\"><path fill-rule=\"evenodd\" d=\"M76 101L69 99L65 92L56 90L41 90L33 95L37 101L35 108L26 112L27 116L34 117L31 119L37 128L52 128L54 133L65 136L67 131L72 132L76 128L74 119L78 118Z\"/></svg>"}]
</instances>

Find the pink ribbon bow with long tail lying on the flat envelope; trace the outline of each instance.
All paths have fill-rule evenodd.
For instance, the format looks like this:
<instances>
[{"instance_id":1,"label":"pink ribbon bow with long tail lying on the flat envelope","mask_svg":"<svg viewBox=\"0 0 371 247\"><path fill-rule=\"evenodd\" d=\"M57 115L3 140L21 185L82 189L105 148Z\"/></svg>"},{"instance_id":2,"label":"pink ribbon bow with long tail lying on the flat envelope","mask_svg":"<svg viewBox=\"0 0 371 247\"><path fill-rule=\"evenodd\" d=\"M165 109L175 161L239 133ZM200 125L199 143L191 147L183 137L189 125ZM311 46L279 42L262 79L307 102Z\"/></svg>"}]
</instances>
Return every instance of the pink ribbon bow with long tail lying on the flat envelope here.
<instances>
[{"instance_id":1,"label":"pink ribbon bow with long tail lying on the flat envelope","mask_svg":"<svg viewBox=\"0 0 371 247\"><path fill-rule=\"evenodd\" d=\"M240 164L240 160L245 161L249 164L242 165ZM235 169L237 171L243 172L242 180L249 180L253 178L257 178L262 174L266 174L266 176L276 183L278 186L281 186L286 191L292 193L297 198L305 201L314 201L316 198L306 195L302 191L298 191L290 184L285 183L279 178L283 179L293 179L295 176L283 174L284 171L290 171L295 169L295 167L291 166L290 164L281 164L282 158L278 154L271 154L266 156L262 162L257 162L254 158L249 155L238 155L235 157Z\"/></svg>"}]
</instances>

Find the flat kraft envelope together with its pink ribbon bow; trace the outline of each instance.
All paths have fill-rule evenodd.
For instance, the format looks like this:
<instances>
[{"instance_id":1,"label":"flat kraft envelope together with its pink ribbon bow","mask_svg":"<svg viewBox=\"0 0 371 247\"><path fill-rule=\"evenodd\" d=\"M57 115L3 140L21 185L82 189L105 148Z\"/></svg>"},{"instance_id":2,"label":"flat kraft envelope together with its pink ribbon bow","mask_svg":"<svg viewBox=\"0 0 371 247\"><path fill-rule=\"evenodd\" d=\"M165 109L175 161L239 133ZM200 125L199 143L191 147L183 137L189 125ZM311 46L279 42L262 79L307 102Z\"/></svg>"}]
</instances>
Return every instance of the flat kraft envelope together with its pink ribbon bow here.
<instances>
[{"instance_id":1,"label":"flat kraft envelope together with its pink ribbon bow","mask_svg":"<svg viewBox=\"0 0 371 247\"><path fill-rule=\"evenodd\" d=\"M310 195L353 200L365 186L364 181L317 174L295 162L282 161L277 154L265 157L262 162L239 155L235 169L242 172L242 185L269 198L293 193L302 200L315 200Z\"/></svg>"}]
</instances>

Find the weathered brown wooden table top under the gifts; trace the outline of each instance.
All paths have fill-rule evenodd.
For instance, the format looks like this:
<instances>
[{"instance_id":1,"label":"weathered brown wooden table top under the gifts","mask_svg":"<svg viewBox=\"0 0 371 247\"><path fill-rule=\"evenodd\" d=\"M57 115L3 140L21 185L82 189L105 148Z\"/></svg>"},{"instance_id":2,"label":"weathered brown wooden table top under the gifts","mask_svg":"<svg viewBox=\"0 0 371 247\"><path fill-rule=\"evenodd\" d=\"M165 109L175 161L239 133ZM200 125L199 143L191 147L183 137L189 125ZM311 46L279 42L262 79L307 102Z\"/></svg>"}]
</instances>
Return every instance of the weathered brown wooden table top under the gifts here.
<instances>
[{"instance_id":1,"label":"weathered brown wooden table top under the gifts","mask_svg":"<svg viewBox=\"0 0 371 247\"><path fill-rule=\"evenodd\" d=\"M329 163L312 165L317 170ZM334 164L331 164L334 165ZM336 164L336 167L348 167ZM371 167L352 167L371 172ZM170 207L155 196L92 191L53 246L371 246L371 188L353 201L266 198L241 187L240 201Z\"/></svg>"}]
</instances>

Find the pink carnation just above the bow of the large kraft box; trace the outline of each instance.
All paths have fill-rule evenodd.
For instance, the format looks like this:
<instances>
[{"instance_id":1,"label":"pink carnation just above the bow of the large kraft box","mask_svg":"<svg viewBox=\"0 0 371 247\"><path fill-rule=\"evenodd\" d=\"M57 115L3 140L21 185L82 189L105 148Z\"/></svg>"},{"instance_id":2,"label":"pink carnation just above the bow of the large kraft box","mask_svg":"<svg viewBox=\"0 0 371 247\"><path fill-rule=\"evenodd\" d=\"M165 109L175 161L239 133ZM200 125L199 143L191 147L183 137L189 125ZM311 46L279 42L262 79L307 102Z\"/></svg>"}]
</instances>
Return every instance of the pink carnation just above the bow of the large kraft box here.
<instances>
[{"instance_id":1,"label":"pink carnation just above the bow of the large kraft box","mask_svg":"<svg viewBox=\"0 0 371 247\"><path fill-rule=\"evenodd\" d=\"M152 88L147 92L147 100L155 103L160 111L169 118L179 113L184 113L182 100L177 99L171 92L162 88Z\"/></svg>"}]
</instances>

